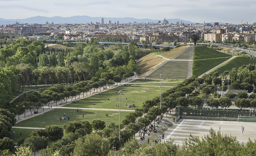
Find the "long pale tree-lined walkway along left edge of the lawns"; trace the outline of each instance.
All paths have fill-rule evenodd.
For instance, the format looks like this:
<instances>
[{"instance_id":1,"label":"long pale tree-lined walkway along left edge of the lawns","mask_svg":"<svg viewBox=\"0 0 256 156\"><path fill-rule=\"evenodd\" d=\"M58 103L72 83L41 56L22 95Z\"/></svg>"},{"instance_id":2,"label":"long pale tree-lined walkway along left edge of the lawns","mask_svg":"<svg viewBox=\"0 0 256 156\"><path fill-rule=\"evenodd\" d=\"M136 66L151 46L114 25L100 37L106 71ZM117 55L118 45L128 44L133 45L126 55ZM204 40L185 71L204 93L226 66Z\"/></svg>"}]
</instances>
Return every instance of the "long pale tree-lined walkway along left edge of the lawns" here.
<instances>
[{"instance_id":1,"label":"long pale tree-lined walkway along left edge of the lawns","mask_svg":"<svg viewBox=\"0 0 256 156\"><path fill-rule=\"evenodd\" d=\"M136 73L136 75L137 75L137 73ZM137 79L137 78L138 78L138 77L136 77L136 78L133 77L132 80L128 80L128 81L126 81L126 82L125 82L125 80L122 80L120 83L118 83L117 86L113 86L113 87L111 87L110 89L113 89L113 88L118 87L118 86L122 86L123 84L128 83L128 82L131 82L131 81L133 81L133 80L135 80L135 79ZM109 88L108 88L107 90L109 90ZM87 92L88 96L84 96L84 97L83 97L83 93L82 93L82 94L80 94L80 99L84 99L84 98L90 97L90 96L92 96L92 95L99 94L99 93L104 92L104 91L107 91L107 90L103 90L103 89L102 89L101 91L98 90L98 92L95 92L94 94L91 94L91 95L90 95L90 92ZM92 91L91 91L91 92L92 92ZM84 93L84 95L86 95L86 92ZM78 97L78 96L76 96L76 97ZM52 101L52 102L50 102L50 105L52 105L52 108L49 108L48 105L47 105L47 106L44 106L44 108L38 109L38 114L33 114L33 112L36 111L37 109L32 109L32 110L31 110L31 111L32 111L32 115L31 115L30 110L26 110L26 112L25 112L25 113L26 113L26 117L24 117L24 113L20 115L20 119L18 119L18 115L16 115L16 120L17 120L16 123L18 123L18 122L20 122L20 121L23 121L23 120L27 120L27 119L32 118L32 117L34 117L34 116L38 116L39 114L42 114L42 113L51 111L51 110L54 109L54 108L61 108L61 106L65 106L66 104L71 103L71 99L72 99L72 97L68 98L68 99L67 99L67 101L68 101L67 103L66 103L66 101L62 100L62 102L63 102L62 105L59 105L59 104L61 104L61 101L57 101L57 106L56 106L56 103L54 103L54 102ZM74 99L74 98L73 98L73 99ZM44 111L43 111L43 110L44 110Z\"/></svg>"}]
</instances>

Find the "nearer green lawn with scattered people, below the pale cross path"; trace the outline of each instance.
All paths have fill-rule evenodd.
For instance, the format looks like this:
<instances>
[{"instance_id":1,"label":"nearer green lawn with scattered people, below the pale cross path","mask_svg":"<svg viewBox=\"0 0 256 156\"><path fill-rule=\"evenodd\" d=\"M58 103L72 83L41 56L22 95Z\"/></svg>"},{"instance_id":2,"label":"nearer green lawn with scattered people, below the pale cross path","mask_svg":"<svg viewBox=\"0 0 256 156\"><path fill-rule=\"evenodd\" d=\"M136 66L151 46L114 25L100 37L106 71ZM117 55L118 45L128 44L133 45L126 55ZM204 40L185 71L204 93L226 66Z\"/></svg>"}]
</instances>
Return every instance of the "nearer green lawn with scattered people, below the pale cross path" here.
<instances>
[{"instance_id":1,"label":"nearer green lawn with scattered people, below the pale cross path","mask_svg":"<svg viewBox=\"0 0 256 156\"><path fill-rule=\"evenodd\" d=\"M79 101L80 102L80 101ZM131 109L131 108L130 108ZM72 111L72 113L71 113ZM57 120L60 119L65 113L65 117L70 117L70 121L89 121L92 123L93 120L102 120L105 121L106 126L111 122L118 123L119 122L119 112L118 111L101 111L101 110L79 110L79 113L76 112L76 109L64 109L64 108L55 108L49 112L44 113L43 115L38 115L27 120L21 121L15 126L20 127L42 127L45 128L47 125L56 124L63 126L68 119L66 120ZM108 113L109 117L106 117L106 113ZM125 116L130 114L131 112L121 112L121 121L125 119ZM76 115L76 118L74 117ZM82 118L84 115L84 118Z\"/></svg>"}]
</instances>

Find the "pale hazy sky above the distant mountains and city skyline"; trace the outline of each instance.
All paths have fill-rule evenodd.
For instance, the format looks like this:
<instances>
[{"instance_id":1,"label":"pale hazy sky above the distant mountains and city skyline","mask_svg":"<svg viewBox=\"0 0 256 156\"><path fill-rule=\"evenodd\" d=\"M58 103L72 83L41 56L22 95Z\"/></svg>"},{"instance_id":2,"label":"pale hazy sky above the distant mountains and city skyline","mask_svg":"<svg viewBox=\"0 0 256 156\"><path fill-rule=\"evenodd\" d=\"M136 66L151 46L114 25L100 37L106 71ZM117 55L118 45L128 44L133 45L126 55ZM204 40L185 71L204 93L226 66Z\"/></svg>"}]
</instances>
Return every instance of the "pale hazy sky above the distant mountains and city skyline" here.
<instances>
[{"instance_id":1,"label":"pale hazy sky above the distant mountains and city skyline","mask_svg":"<svg viewBox=\"0 0 256 156\"><path fill-rule=\"evenodd\" d=\"M191 22L256 22L256 0L0 0L0 18L88 15Z\"/></svg>"}]
</instances>

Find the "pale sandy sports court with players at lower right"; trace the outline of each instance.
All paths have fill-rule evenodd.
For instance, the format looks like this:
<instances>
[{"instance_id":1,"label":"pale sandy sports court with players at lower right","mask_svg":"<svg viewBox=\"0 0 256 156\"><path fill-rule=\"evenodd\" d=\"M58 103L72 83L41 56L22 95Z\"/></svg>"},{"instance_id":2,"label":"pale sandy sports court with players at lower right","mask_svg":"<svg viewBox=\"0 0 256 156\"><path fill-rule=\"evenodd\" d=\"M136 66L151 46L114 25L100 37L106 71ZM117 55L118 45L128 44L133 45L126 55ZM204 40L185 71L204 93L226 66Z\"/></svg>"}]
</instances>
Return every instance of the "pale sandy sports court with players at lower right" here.
<instances>
[{"instance_id":1,"label":"pale sandy sports court with players at lower right","mask_svg":"<svg viewBox=\"0 0 256 156\"><path fill-rule=\"evenodd\" d=\"M242 136L242 126L244 134ZM218 131L221 127L221 133L231 134L237 137L240 142L247 142L249 138L254 141L256 139L256 123L255 122L237 122L237 121L218 121L218 120L195 120L183 119L180 124L168 135L166 139L174 139L175 144L182 145L182 141L192 136L199 138L209 134L211 128Z\"/></svg>"}]
</instances>

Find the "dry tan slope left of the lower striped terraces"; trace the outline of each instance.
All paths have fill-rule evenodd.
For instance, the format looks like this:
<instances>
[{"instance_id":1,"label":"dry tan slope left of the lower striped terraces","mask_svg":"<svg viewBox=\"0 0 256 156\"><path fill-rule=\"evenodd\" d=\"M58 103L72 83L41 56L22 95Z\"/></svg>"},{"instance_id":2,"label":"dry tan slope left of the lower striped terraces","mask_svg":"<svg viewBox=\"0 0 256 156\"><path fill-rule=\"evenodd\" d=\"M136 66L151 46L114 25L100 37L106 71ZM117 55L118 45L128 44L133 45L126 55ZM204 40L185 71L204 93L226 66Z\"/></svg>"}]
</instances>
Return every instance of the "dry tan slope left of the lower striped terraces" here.
<instances>
[{"instance_id":1,"label":"dry tan slope left of the lower striped terraces","mask_svg":"<svg viewBox=\"0 0 256 156\"><path fill-rule=\"evenodd\" d=\"M160 65L166 61L164 58L155 55L154 53L150 53L136 61L137 69L140 72L139 76L144 76L155 67Z\"/></svg>"}]
</instances>

